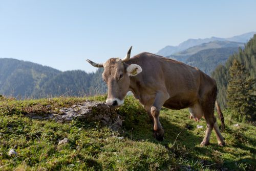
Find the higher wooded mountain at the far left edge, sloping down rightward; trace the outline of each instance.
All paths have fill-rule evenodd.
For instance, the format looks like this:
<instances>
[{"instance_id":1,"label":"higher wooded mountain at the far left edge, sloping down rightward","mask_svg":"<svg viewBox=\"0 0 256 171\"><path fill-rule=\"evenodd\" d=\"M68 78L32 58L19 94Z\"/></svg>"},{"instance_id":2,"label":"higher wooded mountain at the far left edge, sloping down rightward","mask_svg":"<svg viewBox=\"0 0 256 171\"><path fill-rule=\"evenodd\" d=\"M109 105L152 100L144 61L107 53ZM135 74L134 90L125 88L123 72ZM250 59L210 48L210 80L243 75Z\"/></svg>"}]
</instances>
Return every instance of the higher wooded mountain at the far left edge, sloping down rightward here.
<instances>
[{"instance_id":1,"label":"higher wooded mountain at the far left edge, sloping down rightward","mask_svg":"<svg viewBox=\"0 0 256 171\"><path fill-rule=\"evenodd\" d=\"M0 93L30 96L33 91L61 71L16 59L0 59Z\"/></svg>"}]
</instances>

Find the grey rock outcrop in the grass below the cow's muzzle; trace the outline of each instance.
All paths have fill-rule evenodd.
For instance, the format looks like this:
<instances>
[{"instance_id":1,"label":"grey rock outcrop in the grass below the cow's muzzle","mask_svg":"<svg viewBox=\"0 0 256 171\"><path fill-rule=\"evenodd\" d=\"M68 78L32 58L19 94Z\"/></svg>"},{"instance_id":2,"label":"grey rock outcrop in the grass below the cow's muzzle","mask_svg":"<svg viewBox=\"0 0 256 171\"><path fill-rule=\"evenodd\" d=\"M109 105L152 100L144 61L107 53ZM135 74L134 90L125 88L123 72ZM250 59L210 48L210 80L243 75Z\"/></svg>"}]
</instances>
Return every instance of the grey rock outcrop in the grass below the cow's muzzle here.
<instances>
[{"instance_id":1,"label":"grey rock outcrop in the grass below the cow's muzzle","mask_svg":"<svg viewBox=\"0 0 256 171\"><path fill-rule=\"evenodd\" d=\"M89 122L99 121L100 124L110 126L114 130L122 126L121 116L117 114L115 109L111 109L103 102L88 101L69 108L57 108L55 111L58 112L28 113L26 116L32 119L54 119L61 123L74 119Z\"/></svg>"}]
</instances>

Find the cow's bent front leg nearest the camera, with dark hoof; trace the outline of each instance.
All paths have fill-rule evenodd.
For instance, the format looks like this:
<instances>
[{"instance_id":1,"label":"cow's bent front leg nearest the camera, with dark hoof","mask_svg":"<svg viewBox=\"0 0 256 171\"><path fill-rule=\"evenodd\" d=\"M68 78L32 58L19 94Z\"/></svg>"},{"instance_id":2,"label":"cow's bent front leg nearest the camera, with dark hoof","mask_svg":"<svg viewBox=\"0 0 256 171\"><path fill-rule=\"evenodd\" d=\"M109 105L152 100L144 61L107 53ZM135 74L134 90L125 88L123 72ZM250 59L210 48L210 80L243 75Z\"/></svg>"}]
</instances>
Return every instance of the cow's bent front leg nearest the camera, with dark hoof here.
<instances>
[{"instance_id":1,"label":"cow's bent front leg nearest the camera, with dark hoof","mask_svg":"<svg viewBox=\"0 0 256 171\"><path fill-rule=\"evenodd\" d=\"M151 107L151 114L154 118L154 136L157 140L162 141L164 130L159 121L159 115L161 107L163 106L164 102L169 99L169 94L164 92L158 92L155 97L155 101L153 106Z\"/></svg>"}]
</instances>

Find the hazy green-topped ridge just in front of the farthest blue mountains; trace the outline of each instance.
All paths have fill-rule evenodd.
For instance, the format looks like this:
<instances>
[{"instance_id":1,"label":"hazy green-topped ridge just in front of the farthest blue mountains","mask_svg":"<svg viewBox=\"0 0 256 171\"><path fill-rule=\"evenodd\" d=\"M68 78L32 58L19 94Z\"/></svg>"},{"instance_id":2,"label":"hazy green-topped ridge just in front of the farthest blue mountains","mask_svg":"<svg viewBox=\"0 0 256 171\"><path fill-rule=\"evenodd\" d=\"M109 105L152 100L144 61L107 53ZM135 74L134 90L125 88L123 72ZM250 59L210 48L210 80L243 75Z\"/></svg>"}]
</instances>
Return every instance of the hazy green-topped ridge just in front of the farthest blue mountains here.
<instances>
[{"instance_id":1,"label":"hazy green-topped ridge just in front of the farthest blue mountains","mask_svg":"<svg viewBox=\"0 0 256 171\"><path fill-rule=\"evenodd\" d=\"M202 50L213 49L213 48L225 48L225 47L243 47L244 43L240 42L231 42L231 41L212 41L208 43L203 43L197 46L188 48L187 50L181 51L179 53L166 56L166 58L176 59L181 62L186 62L186 60Z\"/></svg>"}]
</instances>

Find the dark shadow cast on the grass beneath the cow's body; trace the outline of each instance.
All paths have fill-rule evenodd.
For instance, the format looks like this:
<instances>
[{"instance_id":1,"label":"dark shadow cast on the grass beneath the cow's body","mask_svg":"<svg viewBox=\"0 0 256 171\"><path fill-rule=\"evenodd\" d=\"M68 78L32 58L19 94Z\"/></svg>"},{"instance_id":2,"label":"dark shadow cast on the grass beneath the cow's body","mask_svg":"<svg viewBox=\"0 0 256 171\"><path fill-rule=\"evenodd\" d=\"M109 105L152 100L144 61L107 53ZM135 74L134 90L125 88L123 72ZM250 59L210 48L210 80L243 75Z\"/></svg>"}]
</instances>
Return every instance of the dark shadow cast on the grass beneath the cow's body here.
<instances>
[{"instance_id":1,"label":"dark shadow cast on the grass beneath the cow's body","mask_svg":"<svg viewBox=\"0 0 256 171\"><path fill-rule=\"evenodd\" d=\"M163 112L165 111L163 110ZM198 163L198 165L201 165L203 168L208 167L211 169L248 168L248 170L253 170L251 168L255 168L255 166L253 165L253 162L255 163L255 159L253 158L246 158L234 161L226 157L222 157L222 154L225 153L230 153L233 156L237 156L237 154L232 154L232 152L224 150L223 147L218 146L217 142L210 143L210 145L206 147L199 146L200 142L203 140L204 134L203 136L199 133L198 135L196 135L195 132L190 131L195 128L193 125L187 124L187 122L185 121L184 124L177 124L174 123L173 119L169 119L166 115L162 117L160 116L160 122L164 129L163 141L157 141L153 137L152 121L150 120L150 118L148 118L147 115L138 115L137 119L133 121L126 121L129 127L125 127L126 124L124 124L126 132L123 134L123 136L126 136L127 138L135 141L147 140L157 144L160 143L161 145L165 146L165 148L169 152L169 155L175 156L176 159L182 158L188 161L182 163L182 165L191 165L193 163ZM205 123L203 124L205 125ZM214 131L212 131L211 136L214 136L213 138L216 138ZM252 154L255 152L255 149L241 143L238 143L238 147L242 150L249 151ZM230 148L234 148L234 146L230 146ZM208 159L206 159L207 157ZM246 162L248 162L249 164L246 164Z\"/></svg>"}]
</instances>

